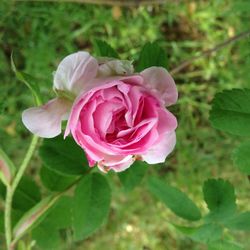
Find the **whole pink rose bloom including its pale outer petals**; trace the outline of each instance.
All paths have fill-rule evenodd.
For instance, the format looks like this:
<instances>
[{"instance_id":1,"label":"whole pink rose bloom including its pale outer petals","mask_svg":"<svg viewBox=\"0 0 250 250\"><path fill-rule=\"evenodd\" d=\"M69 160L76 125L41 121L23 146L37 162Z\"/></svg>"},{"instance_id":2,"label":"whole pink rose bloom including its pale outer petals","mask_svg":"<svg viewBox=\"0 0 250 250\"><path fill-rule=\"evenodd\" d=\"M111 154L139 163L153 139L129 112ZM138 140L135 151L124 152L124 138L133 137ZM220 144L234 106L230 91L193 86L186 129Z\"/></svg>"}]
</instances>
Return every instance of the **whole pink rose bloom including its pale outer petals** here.
<instances>
[{"instance_id":1,"label":"whole pink rose bloom including its pale outer petals","mask_svg":"<svg viewBox=\"0 0 250 250\"><path fill-rule=\"evenodd\" d=\"M27 109L22 120L34 134L71 134L92 167L123 171L138 160L161 163L176 143L175 116L165 107L177 101L174 80L162 67L133 73L128 61L98 62L87 52L67 56L54 74L59 97ZM74 96L67 99L67 96Z\"/></svg>"}]
</instances>

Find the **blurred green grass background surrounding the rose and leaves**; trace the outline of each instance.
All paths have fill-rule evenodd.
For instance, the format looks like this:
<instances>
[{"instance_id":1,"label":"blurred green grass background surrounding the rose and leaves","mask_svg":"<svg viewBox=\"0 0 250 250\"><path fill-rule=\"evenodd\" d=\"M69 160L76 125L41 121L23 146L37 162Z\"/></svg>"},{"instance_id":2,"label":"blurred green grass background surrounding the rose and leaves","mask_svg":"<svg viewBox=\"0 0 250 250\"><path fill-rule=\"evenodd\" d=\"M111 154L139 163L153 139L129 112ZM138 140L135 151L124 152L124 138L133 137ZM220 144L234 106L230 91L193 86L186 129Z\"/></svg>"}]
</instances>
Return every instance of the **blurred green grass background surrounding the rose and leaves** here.
<instances>
[{"instance_id":1,"label":"blurred green grass background surrounding the rose and leaves","mask_svg":"<svg viewBox=\"0 0 250 250\"><path fill-rule=\"evenodd\" d=\"M123 1L126 2L126 1ZM154 2L154 1L152 1ZM0 144L19 163L30 140L21 113L33 105L28 89L10 68L13 52L18 69L38 79L49 100L52 73L66 55L92 51L92 40L105 40L123 59L136 60L142 46L158 41L168 55L168 69L249 29L250 1L166 1L163 5L106 6L83 3L0 3ZM209 177L231 181L242 210L249 209L249 181L232 164L239 138L215 131L209 124L210 103L223 89L250 87L250 38L194 61L174 76L179 101L171 107L178 117L177 146L165 164L150 167L181 188L206 211L202 183ZM39 159L30 173L39 181ZM143 185L125 192L114 173L112 209L107 224L92 237L62 249L182 250L206 249L176 232L168 222L179 221ZM1 205L2 206L2 205ZM249 247L249 235L235 234ZM248 248L250 249L250 248Z\"/></svg>"}]
</instances>

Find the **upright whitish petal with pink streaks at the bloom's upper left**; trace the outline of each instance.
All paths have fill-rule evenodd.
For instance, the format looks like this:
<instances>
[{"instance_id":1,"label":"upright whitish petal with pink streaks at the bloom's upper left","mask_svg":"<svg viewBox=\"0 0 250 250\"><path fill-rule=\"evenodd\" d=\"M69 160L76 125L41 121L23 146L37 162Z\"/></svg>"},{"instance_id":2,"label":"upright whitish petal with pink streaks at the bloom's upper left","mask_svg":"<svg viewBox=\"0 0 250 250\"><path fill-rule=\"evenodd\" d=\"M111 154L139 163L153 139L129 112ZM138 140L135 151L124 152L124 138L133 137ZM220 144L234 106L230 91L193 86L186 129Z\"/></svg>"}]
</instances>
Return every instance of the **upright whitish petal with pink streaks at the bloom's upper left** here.
<instances>
[{"instance_id":1,"label":"upright whitish petal with pink streaks at the bloom's upper left","mask_svg":"<svg viewBox=\"0 0 250 250\"><path fill-rule=\"evenodd\" d=\"M65 57L54 75L54 88L78 95L96 77L97 60L88 52L77 52Z\"/></svg>"}]
</instances>

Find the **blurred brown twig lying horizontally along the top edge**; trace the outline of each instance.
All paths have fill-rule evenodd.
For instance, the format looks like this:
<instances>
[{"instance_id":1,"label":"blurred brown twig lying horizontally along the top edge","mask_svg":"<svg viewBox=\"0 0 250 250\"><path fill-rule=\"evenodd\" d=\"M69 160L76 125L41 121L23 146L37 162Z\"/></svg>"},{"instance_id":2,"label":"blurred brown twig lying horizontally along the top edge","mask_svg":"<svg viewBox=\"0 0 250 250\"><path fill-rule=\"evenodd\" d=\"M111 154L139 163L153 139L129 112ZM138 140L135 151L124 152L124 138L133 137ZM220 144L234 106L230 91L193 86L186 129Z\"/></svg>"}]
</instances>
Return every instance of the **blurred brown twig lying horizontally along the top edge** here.
<instances>
[{"instance_id":1,"label":"blurred brown twig lying horizontally along the top edge","mask_svg":"<svg viewBox=\"0 0 250 250\"><path fill-rule=\"evenodd\" d=\"M160 5L165 4L167 0L15 0L16 2L71 2L82 4L98 4L111 6L139 6L139 5Z\"/></svg>"}]
</instances>

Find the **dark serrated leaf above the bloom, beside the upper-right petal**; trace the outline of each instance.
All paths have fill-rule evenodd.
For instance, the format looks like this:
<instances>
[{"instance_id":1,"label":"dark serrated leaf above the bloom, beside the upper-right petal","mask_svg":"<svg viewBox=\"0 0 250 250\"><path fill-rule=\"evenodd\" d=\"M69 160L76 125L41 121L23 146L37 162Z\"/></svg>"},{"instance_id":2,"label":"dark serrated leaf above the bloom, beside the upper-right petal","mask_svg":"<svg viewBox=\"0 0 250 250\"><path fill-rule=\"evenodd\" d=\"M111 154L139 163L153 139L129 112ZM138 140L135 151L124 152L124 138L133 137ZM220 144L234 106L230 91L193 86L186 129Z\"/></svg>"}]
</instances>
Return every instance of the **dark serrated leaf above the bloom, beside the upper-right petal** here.
<instances>
[{"instance_id":1,"label":"dark serrated leaf above the bloom, beside the upper-right petal","mask_svg":"<svg viewBox=\"0 0 250 250\"><path fill-rule=\"evenodd\" d=\"M161 66L167 68L167 55L156 42L146 43L142 48L136 71L140 72L151 66Z\"/></svg>"}]
</instances>

